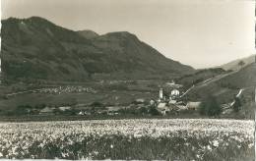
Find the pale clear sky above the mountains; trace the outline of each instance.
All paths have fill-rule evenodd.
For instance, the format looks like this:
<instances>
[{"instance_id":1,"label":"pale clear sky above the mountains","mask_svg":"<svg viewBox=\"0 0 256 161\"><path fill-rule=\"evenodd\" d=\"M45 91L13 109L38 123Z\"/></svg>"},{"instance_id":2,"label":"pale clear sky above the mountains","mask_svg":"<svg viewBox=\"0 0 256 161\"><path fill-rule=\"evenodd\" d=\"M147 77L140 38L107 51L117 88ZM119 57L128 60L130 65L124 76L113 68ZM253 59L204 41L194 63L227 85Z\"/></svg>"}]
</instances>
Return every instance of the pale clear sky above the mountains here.
<instances>
[{"instance_id":1,"label":"pale clear sky above the mountains","mask_svg":"<svg viewBox=\"0 0 256 161\"><path fill-rule=\"evenodd\" d=\"M2 19L38 16L73 30L129 31L165 57L210 68L255 54L253 0L1 0Z\"/></svg>"}]
</instances>

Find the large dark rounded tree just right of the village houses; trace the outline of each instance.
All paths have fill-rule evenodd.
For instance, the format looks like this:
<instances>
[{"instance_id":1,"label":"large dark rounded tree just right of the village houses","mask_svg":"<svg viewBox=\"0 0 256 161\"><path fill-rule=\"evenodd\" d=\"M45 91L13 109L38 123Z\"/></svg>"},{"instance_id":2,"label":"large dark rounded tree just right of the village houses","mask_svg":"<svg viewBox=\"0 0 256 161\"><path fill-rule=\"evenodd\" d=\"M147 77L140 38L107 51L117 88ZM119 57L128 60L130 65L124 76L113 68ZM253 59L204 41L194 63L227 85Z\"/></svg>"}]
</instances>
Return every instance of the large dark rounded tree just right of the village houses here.
<instances>
[{"instance_id":1,"label":"large dark rounded tree just right of the village houses","mask_svg":"<svg viewBox=\"0 0 256 161\"><path fill-rule=\"evenodd\" d=\"M200 114L207 116L218 116L222 113L222 108L214 96L207 96L200 105Z\"/></svg>"}]
</instances>

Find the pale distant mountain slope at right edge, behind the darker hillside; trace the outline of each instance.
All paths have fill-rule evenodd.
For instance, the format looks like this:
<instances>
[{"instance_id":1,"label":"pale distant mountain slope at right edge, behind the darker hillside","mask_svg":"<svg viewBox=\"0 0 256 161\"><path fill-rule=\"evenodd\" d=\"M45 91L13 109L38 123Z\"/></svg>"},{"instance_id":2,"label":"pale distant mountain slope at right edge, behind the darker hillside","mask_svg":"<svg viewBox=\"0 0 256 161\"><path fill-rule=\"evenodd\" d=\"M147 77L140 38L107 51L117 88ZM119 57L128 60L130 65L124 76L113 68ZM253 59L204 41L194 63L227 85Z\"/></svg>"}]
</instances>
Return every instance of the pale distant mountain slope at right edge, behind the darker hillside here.
<instances>
[{"instance_id":1,"label":"pale distant mountain slope at right edge, behind the darker hillside","mask_svg":"<svg viewBox=\"0 0 256 161\"><path fill-rule=\"evenodd\" d=\"M225 71L228 71L228 70L236 71L241 69L243 66L247 66L253 62L255 62L255 55L251 55L245 58L231 61L229 63L226 63L220 66L219 68L223 68Z\"/></svg>"}]
</instances>

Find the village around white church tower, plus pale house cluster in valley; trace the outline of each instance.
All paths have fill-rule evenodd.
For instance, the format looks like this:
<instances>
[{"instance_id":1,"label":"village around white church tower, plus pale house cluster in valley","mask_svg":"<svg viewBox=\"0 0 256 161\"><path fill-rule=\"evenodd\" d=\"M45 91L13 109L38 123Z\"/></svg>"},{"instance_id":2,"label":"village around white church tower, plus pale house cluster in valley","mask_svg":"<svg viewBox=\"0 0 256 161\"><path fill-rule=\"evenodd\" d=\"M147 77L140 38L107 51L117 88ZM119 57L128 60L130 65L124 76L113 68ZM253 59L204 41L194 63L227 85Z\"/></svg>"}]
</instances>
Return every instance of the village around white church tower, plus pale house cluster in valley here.
<instances>
[{"instance_id":1,"label":"village around white church tower, plus pale house cluster in valley","mask_svg":"<svg viewBox=\"0 0 256 161\"><path fill-rule=\"evenodd\" d=\"M63 92L91 92L96 90L83 86L67 86L55 88L43 88L33 92L44 92L61 94ZM182 111L197 111L201 102L185 101L187 91L182 90L182 84L177 84L173 80L165 82L159 90L157 99L137 98L129 105L106 105L101 102L91 104L66 104L66 105L38 105L36 107L22 106L19 108L25 110L24 114L30 115L77 115L77 116L115 116L115 115L178 115Z\"/></svg>"}]
</instances>

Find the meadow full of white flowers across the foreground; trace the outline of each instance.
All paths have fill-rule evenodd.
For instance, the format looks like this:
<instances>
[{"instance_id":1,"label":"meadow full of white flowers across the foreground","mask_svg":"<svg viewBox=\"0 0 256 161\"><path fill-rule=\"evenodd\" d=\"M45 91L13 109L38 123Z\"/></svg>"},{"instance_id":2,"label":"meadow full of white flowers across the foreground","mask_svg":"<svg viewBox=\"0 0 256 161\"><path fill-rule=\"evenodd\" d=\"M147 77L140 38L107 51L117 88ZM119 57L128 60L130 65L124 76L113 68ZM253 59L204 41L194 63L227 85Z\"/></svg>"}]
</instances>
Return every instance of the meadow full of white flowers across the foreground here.
<instances>
[{"instance_id":1,"label":"meadow full of white flowers across the foreground","mask_svg":"<svg viewBox=\"0 0 256 161\"><path fill-rule=\"evenodd\" d=\"M214 119L0 123L0 158L253 160L254 126Z\"/></svg>"}]
</instances>

